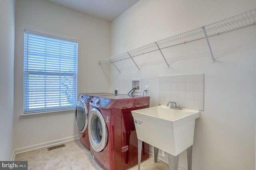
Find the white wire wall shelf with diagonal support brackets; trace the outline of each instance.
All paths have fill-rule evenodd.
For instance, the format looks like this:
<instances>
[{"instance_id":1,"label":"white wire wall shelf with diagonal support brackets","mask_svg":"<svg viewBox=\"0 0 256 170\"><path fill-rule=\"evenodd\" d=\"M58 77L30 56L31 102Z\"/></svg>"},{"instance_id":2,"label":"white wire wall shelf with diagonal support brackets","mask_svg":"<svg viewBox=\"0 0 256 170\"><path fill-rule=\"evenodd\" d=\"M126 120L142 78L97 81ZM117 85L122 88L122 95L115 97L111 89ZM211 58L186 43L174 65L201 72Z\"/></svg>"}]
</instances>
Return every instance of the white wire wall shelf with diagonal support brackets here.
<instances>
[{"instance_id":1,"label":"white wire wall shelf with diagonal support brackets","mask_svg":"<svg viewBox=\"0 0 256 170\"><path fill-rule=\"evenodd\" d=\"M242 14L215 22L211 23L209 25L205 25L203 27L199 27L196 29L193 29L191 31L187 31L172 37L168 37L166 39L162 39L160 41L156 41L154 43L150 43L148 45L144 45L142 47L133 49L131 51L127 51L126 53L122 53L120 55L116 55L107 59L104 59L99 62L100 63L112 63L114 64L117 61L122 61L126 59L132 59L132 61L135 63L133 60L134 57L144 55L146 53L150 53L153 51L160 51L162 56L164 57L162 53L162 49L168 48L168 47L173 47L176 45L196 41L199 39L204 39L206 38L211 55L212 55L212 63L215 62L211 48L210 48L210 43L208 41L208 37L212 37L214 35L220 35L222 33L227 33L230 31L234 31L237 29L241 29L244 27L248 27L251 25L255 25L256 23L256 9L250 10L248 12L244 12ZM164 60L167 63L165 57ZM136 63L135 63L136 64ZM115 66L115 65L114 65ZM137 64L136 64L137 66ZM117 67L116 67L117 68ZM137 68L140 70L140 68L137 66ZM118 68L117 68L118 70ZM119 71L119 70L118 70ZM119 71L120 72L120 71Z\"/></svg>"}]
</instances>

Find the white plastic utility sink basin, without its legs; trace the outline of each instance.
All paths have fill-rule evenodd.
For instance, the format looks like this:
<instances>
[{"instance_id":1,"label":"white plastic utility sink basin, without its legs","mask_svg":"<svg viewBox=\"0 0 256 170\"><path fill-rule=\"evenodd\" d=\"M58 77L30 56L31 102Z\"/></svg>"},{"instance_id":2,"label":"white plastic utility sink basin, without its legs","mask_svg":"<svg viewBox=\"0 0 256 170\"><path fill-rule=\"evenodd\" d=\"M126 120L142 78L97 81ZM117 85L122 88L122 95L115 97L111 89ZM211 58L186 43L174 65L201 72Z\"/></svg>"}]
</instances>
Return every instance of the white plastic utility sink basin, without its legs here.
<instances>
[{"instance_id":1,"label":"white plastic utility sink basin, without its legs","mask_svg":"<svg viewBox=\"0 0 256 170\"><path fill-rule=\"evenodd\" d=\"M193 145L199 115L199 110L163 105L132 111L138 139L174 156Z\"/></svg>"}]
</instances>

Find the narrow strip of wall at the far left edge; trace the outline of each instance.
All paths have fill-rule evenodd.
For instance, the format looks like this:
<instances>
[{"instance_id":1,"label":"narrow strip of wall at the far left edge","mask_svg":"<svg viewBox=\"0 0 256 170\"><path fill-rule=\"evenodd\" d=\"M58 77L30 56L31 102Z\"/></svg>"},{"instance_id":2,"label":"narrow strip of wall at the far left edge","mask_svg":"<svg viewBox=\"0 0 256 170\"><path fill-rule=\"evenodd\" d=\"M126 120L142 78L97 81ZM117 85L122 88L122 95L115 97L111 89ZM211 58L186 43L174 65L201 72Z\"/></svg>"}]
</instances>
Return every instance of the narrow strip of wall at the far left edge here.
<instances>
[{"instance_id":1,"label":"narrow strip of wall at the far left edge","mask_svg":"<svg viewBox=\"0 0 256 170\"><path fill-rule=\"evenodd\" d=\"M14 0L0 0L0 160L13 153Z\"/></svg>"}]
</instances>

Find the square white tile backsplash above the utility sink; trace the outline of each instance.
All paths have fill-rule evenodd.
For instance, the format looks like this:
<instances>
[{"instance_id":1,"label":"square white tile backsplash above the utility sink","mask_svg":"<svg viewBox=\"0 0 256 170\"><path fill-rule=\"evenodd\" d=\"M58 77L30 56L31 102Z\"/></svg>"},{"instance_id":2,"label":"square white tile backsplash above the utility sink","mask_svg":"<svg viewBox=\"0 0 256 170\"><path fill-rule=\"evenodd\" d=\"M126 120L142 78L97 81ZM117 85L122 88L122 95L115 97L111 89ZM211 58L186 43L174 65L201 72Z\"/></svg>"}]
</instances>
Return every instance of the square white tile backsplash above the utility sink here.
<instances>
[{"instance_id":1,"label":"square white tile backsplash above the utility sink","mask_svg":"<svg viewBox=\"0 0 256 170\"><path fill-rule=\"evenodd\" d=\"M159 76L158 103L204 110L204 74Z\"/></svg>"}]
</instances>

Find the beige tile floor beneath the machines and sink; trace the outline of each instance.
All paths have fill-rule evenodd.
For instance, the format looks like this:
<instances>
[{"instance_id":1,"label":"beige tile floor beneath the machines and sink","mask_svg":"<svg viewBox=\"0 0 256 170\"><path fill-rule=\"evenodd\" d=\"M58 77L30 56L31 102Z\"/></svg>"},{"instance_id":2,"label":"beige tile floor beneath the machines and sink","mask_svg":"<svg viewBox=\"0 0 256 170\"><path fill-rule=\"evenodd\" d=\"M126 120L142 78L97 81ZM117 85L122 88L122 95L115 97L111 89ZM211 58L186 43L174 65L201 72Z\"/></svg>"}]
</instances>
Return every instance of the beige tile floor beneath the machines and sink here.
<instances>
[{"instance_id":1,"label":"beige tile floor beneath the machines and sink","mask_svg":"<svg viewBox=\"0 0 256 170\"><path fill-rule=\"evenodd\" d=\"M36 149L16 154L15 160L28 161L28 170L102 170L93 160L90 150L84 148L79 140L65 143L66 147L47 150ZM141 162L141 170L168 170L168 164L158 159L154 163L154 156ZM129 170L138 170L138 166Z\"/></svg>"}]
</instances>

